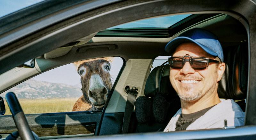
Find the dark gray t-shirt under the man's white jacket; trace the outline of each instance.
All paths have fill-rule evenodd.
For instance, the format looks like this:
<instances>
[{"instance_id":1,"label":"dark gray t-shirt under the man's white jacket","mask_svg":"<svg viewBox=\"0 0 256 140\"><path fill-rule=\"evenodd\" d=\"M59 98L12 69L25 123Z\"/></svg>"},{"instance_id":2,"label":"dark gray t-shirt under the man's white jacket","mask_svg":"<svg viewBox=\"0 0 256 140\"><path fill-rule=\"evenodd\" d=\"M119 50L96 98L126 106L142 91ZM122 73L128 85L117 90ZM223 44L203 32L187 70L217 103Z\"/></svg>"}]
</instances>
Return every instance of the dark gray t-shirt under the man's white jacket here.
<instances>
[{"instance_id":1,"label":"dark gray t-shirt under the man's white jacket","mask_svg":"<svg viewBox=\"0 0 256 140\"><path fill-rule=\"evenodd\" d=\"M191 113L191 114L181 114L178 121L176 122L175 131L177 131L177 130L186 130L187 127L191 123L195 122L196 119L198 119L199 117L204 115L208 110L210 110L214 106L211 106L209 108L205 108L203 110L200 110L200 111L197 111L197 112L194 112L194 113Z\"/></svg>"}]
</instances>

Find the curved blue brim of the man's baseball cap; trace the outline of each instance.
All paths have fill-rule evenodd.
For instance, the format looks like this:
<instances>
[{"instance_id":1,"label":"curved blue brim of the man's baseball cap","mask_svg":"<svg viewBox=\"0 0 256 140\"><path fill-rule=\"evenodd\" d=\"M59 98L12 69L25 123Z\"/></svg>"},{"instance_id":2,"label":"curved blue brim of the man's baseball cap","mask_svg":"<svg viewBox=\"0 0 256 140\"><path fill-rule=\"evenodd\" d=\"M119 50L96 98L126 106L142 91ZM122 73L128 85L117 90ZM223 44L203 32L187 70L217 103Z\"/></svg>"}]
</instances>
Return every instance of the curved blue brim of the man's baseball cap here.
<instances>
[{"instance_id":1,"label":"curved blue brim of the man's baseball cap","mask_svg":"<svg viewBox=\"0 0 256 140\"><path fill-rule=\"evenodd\" d=\"M207 46L204 46L203 44L200 44L196 42L193 39L190 39L188 37L177 37L175 39L172 39L170 42L168 42L165 46L165 51L167 53L172 53L175 51L176 47L179 46L181 43L185 42L193 42L196 43L198 46L200 46L206 53L212 55L212 56L218 56L217 53L215 53L212 49L208 48Z\"/></svg>"}]
</instances>

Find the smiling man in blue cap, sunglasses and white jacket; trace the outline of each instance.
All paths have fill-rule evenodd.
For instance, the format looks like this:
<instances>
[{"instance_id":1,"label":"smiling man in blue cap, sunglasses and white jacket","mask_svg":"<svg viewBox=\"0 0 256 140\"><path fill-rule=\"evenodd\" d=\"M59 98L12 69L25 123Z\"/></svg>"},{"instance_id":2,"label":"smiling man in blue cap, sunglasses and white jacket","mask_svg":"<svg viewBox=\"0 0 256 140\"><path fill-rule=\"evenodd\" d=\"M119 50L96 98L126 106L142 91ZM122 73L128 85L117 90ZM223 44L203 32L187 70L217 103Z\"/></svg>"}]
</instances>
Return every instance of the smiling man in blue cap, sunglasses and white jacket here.
<instances>
[{"instance_id":1,"label":"smiling man in blue cap, sunglasses and white jacket","mask_svg":"<svg viewBox=\"0 0 256 140\"><path fill-rule=\"evenodd\" d=\"M244 125L244 112L232 99L220 100L218 83L225 71L223 51L217 37L194 28L171 40L165 50L170 81L180 97L181 108L164 132L223 128Z\"/></svg>"}]
</instances>

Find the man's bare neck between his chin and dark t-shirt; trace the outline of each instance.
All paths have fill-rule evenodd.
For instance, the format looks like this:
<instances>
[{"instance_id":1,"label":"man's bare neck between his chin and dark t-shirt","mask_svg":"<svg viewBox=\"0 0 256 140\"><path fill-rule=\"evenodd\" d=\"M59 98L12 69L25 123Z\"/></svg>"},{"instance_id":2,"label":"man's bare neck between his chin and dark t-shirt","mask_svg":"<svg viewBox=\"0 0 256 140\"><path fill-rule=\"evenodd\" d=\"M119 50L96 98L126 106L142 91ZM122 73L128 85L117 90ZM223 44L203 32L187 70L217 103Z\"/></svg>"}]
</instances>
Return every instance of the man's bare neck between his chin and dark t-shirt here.
<instances>
[{"instance_id":1,"label":"man's bare neck between his chin and dark t-shirt","mask_svg":"<svg viewBox=\"0 0 256 140\"><path fill-rule=\"evenodd\" d=\"M194 102L187 102L183 100L180 100L180 101L181 101L181 111L183 114L194 113L204 108L209 108L211 106L214 106L221 102L217 94L217 91L208 96L206 94L198 101L194 101Z\"/></svg>"}]
</instances>

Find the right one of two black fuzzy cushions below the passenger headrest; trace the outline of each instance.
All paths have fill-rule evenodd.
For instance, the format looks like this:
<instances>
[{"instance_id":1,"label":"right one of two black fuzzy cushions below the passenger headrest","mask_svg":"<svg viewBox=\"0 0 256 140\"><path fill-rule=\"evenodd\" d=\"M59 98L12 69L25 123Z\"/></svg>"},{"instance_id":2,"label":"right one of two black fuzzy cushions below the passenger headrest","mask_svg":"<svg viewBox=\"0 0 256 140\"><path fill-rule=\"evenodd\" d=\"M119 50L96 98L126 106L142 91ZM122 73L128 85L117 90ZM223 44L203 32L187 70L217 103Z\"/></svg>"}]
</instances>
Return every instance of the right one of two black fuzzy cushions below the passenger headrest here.
<instances>
[{"instance_id":1,"label":"right one of two black fuzzy cushions below the passenger headrest","mask_svg":"<svg viewBox=\"0 0 256 140\"><path fill-rule=\"evenodd\" d=\"M167 102L163 95L157 94L153 100L153 116L156 122L164 122L170 103Z\"/></svg>"}]
</instances>

